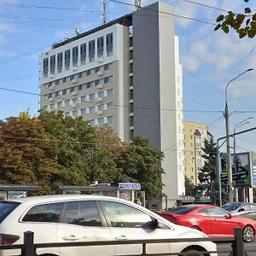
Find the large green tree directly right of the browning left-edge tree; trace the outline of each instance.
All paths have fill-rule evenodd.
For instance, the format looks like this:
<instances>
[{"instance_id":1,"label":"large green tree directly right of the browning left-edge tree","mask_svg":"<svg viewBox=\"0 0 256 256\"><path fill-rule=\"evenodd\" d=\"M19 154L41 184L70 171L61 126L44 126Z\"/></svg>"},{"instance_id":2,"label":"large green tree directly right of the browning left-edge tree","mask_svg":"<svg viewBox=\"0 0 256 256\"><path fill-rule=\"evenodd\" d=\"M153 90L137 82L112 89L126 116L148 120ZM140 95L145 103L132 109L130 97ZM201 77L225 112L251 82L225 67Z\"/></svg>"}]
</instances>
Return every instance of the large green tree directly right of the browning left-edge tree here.
<instances>
[{"instance_id":1,"label":"large green tree directly right of the browning left-edge tree","mask_svg":"<svg viewBox=\"0 0 256 256\"><path fill-rule=\"evenodd\" d=\"M41 111L38 122L58 147L58 168L52 175L53 186L89 184L91 152L96 148L95 128L82 117L73 119L58 113Z\"/></svg>"}]
</instances>

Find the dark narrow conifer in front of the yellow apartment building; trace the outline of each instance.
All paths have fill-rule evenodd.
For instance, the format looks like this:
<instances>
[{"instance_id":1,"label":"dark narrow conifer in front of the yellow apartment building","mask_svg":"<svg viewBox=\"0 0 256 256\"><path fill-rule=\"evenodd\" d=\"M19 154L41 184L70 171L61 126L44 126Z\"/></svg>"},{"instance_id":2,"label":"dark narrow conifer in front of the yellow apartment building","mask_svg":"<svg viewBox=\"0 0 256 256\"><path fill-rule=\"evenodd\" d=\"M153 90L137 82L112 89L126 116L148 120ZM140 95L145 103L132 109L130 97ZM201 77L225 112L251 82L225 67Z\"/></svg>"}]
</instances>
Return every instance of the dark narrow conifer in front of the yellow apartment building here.
<instances>
[{"instance_id":1,"label":"dark narrow conifer in front of the yellow apartment building","mask_svg":"<svg viewBox=\"0 0 256 256\"><path fill-rule=\"evenodd\" d=\"M205 191L205 195L210 195L212 198L212 203L214 199L214 192L218 186L217 176L216 176L216 155L217 146L211 138L210 141L204 141L204 148L202 148L204 154L202 158L205 159L205 164L198 173L198 179L200 181L201 189Z\"/></svg>"}]
</instances>

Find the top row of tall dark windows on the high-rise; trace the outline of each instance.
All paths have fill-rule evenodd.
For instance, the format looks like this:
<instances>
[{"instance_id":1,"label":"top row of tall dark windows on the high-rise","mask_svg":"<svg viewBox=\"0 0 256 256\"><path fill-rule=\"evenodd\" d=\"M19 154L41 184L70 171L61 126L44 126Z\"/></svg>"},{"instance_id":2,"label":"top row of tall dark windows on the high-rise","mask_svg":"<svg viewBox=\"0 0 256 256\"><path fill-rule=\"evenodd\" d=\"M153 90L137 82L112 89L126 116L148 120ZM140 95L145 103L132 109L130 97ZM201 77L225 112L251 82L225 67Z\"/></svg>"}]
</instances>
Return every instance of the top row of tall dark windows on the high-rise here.
<instances>
[{"instance_id":1,"label":"top row of tall dark windows on the high-rise","mask_svg":"<svg viewBox=\"0 0 256 256\"><path fill-rule=\"evenodd\" d=\"M54 74L55 69L58 73L61 73L63 65L66 70L70 68L71 63L73 63L73 67L78 67L79 61L81 65L84 65L87 58L90 62L93 62L95 61L95 55L97 54L98 58L102 58L104 51L107 52L107 55L113 55L113 33L109 33L105 38L102 36L97 40L90 40L88 43L73 47L73 49L66 49L57 55L44 58L44 76L47 76L49 71Z\"/></svg>"}]
</instances>

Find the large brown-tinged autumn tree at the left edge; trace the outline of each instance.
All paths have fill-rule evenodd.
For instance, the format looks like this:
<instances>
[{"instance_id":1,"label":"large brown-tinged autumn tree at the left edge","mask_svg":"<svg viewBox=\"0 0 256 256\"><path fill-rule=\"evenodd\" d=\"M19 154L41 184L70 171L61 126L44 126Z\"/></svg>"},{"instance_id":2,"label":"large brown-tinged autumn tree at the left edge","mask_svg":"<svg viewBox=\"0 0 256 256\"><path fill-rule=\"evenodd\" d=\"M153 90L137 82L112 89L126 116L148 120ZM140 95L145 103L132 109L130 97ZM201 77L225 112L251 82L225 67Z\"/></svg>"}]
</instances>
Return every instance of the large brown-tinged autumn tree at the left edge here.
<instances>
[{"instance_id":1,"label":"large brown-tinged autumn tree at the left edge","mask_svg":"<svg viewBox=\"0 0 256 256\"><path fill-rule=\"evenodd\" d=\"M57 154L55 143L29 113L0 123L0 183L31 183L38 185L38 194L53 193Z\"/></svg>"}]
</instances>

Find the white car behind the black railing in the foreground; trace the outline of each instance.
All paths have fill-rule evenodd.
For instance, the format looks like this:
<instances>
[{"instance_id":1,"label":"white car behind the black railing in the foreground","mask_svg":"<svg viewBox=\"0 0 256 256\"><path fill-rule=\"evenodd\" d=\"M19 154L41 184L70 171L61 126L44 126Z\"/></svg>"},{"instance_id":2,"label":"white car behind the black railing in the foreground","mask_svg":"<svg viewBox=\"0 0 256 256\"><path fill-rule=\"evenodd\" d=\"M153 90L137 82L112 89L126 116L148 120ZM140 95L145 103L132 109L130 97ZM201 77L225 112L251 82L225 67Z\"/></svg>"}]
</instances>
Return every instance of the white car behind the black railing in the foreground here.
<instances>
[{"instance_id":1,"label":"white car behind the black railing in the foreground","mask_svg":"<svg viewBox=\"0 0 256 256\"><path fill-rule=\"evenodd\" d=\"M23 233L34 232L35 243L63 241L129 241L207 237L198 230L172 224L158 214L131 201L102 195L42 195L0 201L0 242L23 243ZM147 244L147 253L181 253L216 256L212 241ZM38 248L38 255L120 255L139 254L140 245ZM0 255L20 251L0 250Z\"/></svg>"}]
</instances>

